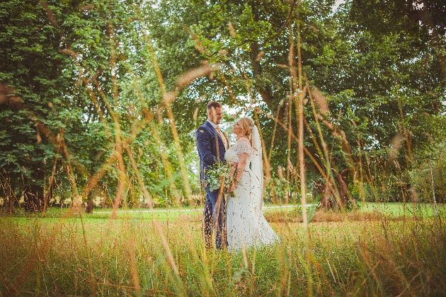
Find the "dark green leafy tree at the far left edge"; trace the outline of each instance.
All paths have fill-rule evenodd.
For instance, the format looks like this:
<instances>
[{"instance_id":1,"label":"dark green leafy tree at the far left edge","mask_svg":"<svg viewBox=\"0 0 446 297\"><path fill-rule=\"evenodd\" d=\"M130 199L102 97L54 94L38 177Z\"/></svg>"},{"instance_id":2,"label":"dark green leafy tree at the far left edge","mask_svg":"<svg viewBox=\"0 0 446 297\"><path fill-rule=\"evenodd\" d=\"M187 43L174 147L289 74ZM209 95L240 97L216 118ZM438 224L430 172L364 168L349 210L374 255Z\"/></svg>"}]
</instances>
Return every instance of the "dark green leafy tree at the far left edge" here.
<instances>
[{"instance_id":1,"label":"dark green leafy tree at the far left edge","mask_svg":"<svg viewBox=\"0 0 446 297\"><path fill-rule=\"evenodd\" d=\"M0 81L6 96L0 105L0 167L15 192L11 196L23 194L28 209L45 206L46 166L56 158L64 126L58 115L65 103L62 90L69 86L63 73L69 59L57 51L60 40L41 8L37 1L0 4Z\"/></svg>"}]
</instances>

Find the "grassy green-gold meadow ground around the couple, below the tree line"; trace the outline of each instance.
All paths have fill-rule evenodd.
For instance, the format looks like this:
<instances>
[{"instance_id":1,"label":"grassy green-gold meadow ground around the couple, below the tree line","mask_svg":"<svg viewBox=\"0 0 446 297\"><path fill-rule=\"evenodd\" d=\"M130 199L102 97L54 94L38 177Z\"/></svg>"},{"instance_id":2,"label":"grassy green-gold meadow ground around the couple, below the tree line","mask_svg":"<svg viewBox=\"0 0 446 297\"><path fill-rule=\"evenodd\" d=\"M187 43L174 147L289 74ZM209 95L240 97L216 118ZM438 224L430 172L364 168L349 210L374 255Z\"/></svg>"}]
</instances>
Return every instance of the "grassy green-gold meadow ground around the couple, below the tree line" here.
<instances>
[{"instance_id":1,"label":"grassy green-gold meadow ground around the couple, below the tree line","mask_svg":"<svg viewBox=\"0 0 446 297\"><path fill-rule=\"evenodd\" d=\"M206 251L202 211L50 209L0 217L1 296L445 296L445 206L267 208L280 235Z\"/></svg>"}]
</instances>

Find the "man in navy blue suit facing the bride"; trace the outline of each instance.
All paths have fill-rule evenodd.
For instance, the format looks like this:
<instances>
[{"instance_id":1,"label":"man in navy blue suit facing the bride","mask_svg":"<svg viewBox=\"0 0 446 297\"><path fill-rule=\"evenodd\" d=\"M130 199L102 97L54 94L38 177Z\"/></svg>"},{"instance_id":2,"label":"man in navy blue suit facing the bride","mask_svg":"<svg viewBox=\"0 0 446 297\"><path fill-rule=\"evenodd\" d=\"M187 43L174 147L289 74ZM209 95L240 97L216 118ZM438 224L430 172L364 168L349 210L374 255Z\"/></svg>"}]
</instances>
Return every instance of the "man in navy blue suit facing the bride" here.
<instances>
[{"instance_id":1,"label":"man in navy blue suit facing the bride","mask_svg":"<svg viewBox=\"0 0 446 297\"><path fill-rule=\"evenodd\" d=\"M195 132L198 155L200 156L200 179L205 185L205 172L217 162L224 161L224 153L229 146L229 139L220 131L218 124L222 120L222 105L211 101L207 104L207 121ZM225 199L219 190L206 190L204 236L205 245L212 247L212 225L215 226L215 246L217 249L226 248Z\"/></svg>"}]
</instances>

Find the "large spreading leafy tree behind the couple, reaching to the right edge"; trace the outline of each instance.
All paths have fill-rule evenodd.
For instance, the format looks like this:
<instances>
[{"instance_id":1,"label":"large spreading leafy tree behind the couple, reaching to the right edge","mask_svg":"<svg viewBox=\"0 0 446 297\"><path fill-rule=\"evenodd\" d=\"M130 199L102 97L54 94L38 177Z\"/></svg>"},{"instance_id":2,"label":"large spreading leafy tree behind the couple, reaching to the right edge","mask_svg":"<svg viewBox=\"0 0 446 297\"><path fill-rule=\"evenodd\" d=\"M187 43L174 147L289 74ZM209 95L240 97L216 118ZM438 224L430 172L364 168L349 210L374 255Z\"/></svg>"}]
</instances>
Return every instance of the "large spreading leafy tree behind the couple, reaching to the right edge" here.
<instances>
[{"instance_id":1,"label":"large spreading leafy tree behind the couple, reaching to the right edge","mask_svg":"<svg viewBox=\"0 0 446 297\"><path fill-rule=\"evenodd\" d=\"M331 182L345 182L348 192L350 183L359 176L358 170L367 168L367 158L371 156L383 173L396 170L389 167L389 162L379 163L375 158L385 156L392 141L400 135L407 145L404 146L406 153L401 153L398 161L406 169L414 148L429 145L429 137L441 135L428 123L442 108L437 100L444 86L438 75L439 64L432 54L433 47L419 25L411 25L410 35L406 34L408 27L404 23L379 33L361 24L370 20L379 24L379 13L386 9L374 10L355 2L350 6L348 2L333 13L332 4L332 1L305 1L299 8L303 71L311 90L316 93L319 89L331 110L323 117L325 121L319 121L324 140L318 138L318 141L335 144L331 148L331 161L316 164L313 158L307 164L314 163L310 169L317 171L324 166L330 172L333 169L335 177ZM170 8L175 11L174 7ZM198 19L194 13L205 17ZM222 65L215 81L200 81L191 92L221 98L229 105L244 105L236 100L248 98L248 106L257 105L267 115L275 115L280 110L277 120L282 121L285 129L275 130L275 122L260 117L265 140L271 142L273 134L276 139L286 139L290 130L287 127L297 131L295 114L290 112L293 103L287 100L291 77L287 57L292 42L297 43L295 13L294 3L268 1L258 6L252 1L198 2L193 10L183 4L175 13L162 14L166 17L159 23L174 28L176 20L180 20L201 57ZM361 13L367 14L367 18L358 21L356 18ZM161 40L159 43L168 47L169 40ZM180 59L187 57L188 61L194 61L195 54L188 53L180 55ZM297 54L293 60L298 61ZM420 100L423 105L419 104ZM305 110L308 127L316 132L320 111L316 106L314 114L309 105ZM307 134L305 143L308 156L323 153L316 148L319 144L312 141L311 134ZM273 167L290 161L295 163L295 145L290 145L290 141L276 143L275 148L280 153L271 155ZM364 182L376 177L369 173L367 178L369 181ZM343 186L337 188L342 190ZM343 201L350 198L343 197Z\"/></svg>"}]
</instances>

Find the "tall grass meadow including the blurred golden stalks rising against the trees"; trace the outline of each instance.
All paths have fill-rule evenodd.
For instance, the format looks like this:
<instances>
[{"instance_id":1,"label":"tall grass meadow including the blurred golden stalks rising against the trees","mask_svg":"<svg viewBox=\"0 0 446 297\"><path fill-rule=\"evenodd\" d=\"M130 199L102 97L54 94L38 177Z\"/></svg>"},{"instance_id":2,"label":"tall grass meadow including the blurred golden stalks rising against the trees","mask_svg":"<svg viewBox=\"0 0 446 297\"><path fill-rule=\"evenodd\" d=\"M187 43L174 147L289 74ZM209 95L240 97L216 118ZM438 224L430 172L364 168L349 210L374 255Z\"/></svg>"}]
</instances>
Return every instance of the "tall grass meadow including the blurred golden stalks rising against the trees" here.
<instances>
[{"instance_id":1,"label":"tall grass meadow including the blurred golden stalks rising against the trees","mask_svg":"<svg viewBox=\"0 0 446 297\"><path fill-rule=\"evenodd\" d=\"M300 1L298 2L300 5ZM45 9L50 12L50 6L45 6ZM51 19L50 22L56 28L59 27L57 20ZM297 24L299 25L299 22ZM109 29L108 37L113 40L115 36L113 28ZM193 35L191 31L190 33ZM231 35L234 37L235 33ZM198 37L193 35L193 38L199 48L203 49ZM278 126L287 132L288 166L285 166L287 177L280 180L285 182L285 202L289 202L292 194L298 194L303 205L301 211L266 214L268 221L280 235L280 243L232 254L225 250L207 251L202 240L201 214L197 216L178 212L160 218L154 214L122 214L118 211L130 185L135 185L135 189L149 202L149 207L153 208L151 202L154 200L154 193L149 192L149 188L144 184L147 181L144 181L144 176L139 171L139 164L134 157L137 154L133 151L132 142L139 137L139 132L150 128L155 139L150 145L159 147L164 145L159 135L161 124L156 125L156 117L159 117L160 123L164 120L169 123L175 147L171 159L178 159L178 171L183 188L176 188L169 169L170 161L164 153L161 153L159 158L166 170L165 176L168 180L165 182L166 185L170 184L168 187L172 193L176 193L177 190L184 192L186 200L202 194L192 192L172 105L181 91L195 78L213 76L215 72L222 77L223 82L227 83L223 73L219 73L216 66L204 64L178 77L175 88L171 91L166 90L156 51L147 38L147 53L162 96L159 106L150 110L144 103L144 94L137 89L135 83L135 94L142 102L139 110L142 120L135 120L130 127L127 127L127 123L120 121L118 116L120 110L114 107L118 106L120 83L118 77L113 76L111 80L115 90L113 95L108 94L111 99L101 90L101 81L97 81L96 76L92 79L87 76L82 77L82 83L87 90L101 90L98 94L91 92L88 95L95 105L102 102L105 106L101 107L103 110L98 110L104 121L104 129L112 129L113 123L114 128L111 131L113 133L110 134L115 135L115 139L108 140L113 152L96 173L86 178L86 185L78 191L69 162L67 145L62 143L62 138L59 141L57 137L50 139L55 144L57 152L62 149L64 153L67 163L64 170L67 171L72 186L69 195L73 198L73 208L65 214L54 215L52 209L47 209L45 204L43 209L46 211L45 218L31 215L0 216L0 295L444 296L446 291L444 211L440 211L439 216L433 216L431 211L418 209L421 204L414 204L416 207L404 204L397 214L391 214L385 209L363 208L359 211L356 204L355 211L345 211L344 206L347 202L353 201L353 195L342 179L342 168L336 168L331 148L326 143L327 135L322 133L321 125L324 124L328 131L337 137L335 139L339 139L342 153L347 159L345 162L351 167L352 172L361 176L358 197L362 200L367 196L364 190L366 182L370 185L372 193L377 192L376 189L379 188L377 179L372 178L374 175L370 169L370 162L373 163L374 160L370 161L365 156L367 162L363 161L361 153L355 156L354 160L345 133L326 117L330 111L324 96L310 86L307 79L303 86L302 65L295 65L295 54L293 54L293 51L297 50L298 60L302 60L300 33L296 41L296 48L293 42L290 42L292 45L290 61L289 65L285 66L290 69L292 82L290 94L293 95L288 98L287 110L283 112L284 118L279 118L282 114L280 108L283 101L278 106L276 117L272 115L269 117L275 121L269 153L266 151L267 145L263 143L265 175L267 181L270 180L271 197L276 202L278 199L275 195L284 189L275 187L272 182L271 172L274 169L270 168L270 158ZM113 53L110 57L110 69L115 72L116 49L113 44L114 42L110 42L112 47L110 50ZM65 53L73 52L69 51L66 50ZM70 55L76 57L74 52ZM246 81L249 90L251 87L247 76ZM255 96L251 91L249 95L255 106ZM309 109L304 107L305 98L309 100L314 119L304 117L304 108ZM234 103L236 103L235 97ZM292 107L295 108L295 117L292 116ZM163 110L166 112L166 119L161 118ZM102 117L105 111L112 119L109 119L109 122ZM194 122L197 118L196 112L193 116ZM256 123L260 124L258 112L261 111L256 110L253 117L256 118ZM311 132L307 122L309 120L314 120L316 123L317 133ZM298 128L297 136L295 128ZM304 147L304 133L311 134L318 156L313 156ZM296 159L299 163L293 165L290 156L295 142L298 144ZM317 174L323 177L327 208L328 206L334 208L337 205L341 211L314 211L305 208L307 199L305 177L308 174L305 169L305 156L318 170ZM57 159L53 163L47 189L50 189L55 182L56 163ZM116 166L115 169L113 164ZM365 164L368 173L362 168ZM297 173L293 173L293 168L299 169L299 177ZM84 214L74 202L76 199L86 200L88 194L91 194L101 179L112 170L116 171L117 180L115 193L112 193L115 196L112 214L101 214L99 211L93 215ZM279 176L281 170L278 170ZM8 197L10 202L16 200L17 197L11 194L11 187L6 187L8 186L6 177L3 175L1 177L0 186L4 197ZM295 188L300 185L300 191L291 193L290 185ZM374 196L378 195L374 193ZM181 193L177 197L181 198ZM405 197L402 200L407 201ZM189 206L193 205L192 201L188 202ZM9 211L11 214L12 206L13 204ZM440 205L440 210L443 207Z\"/></svg>"}]
</instances>

